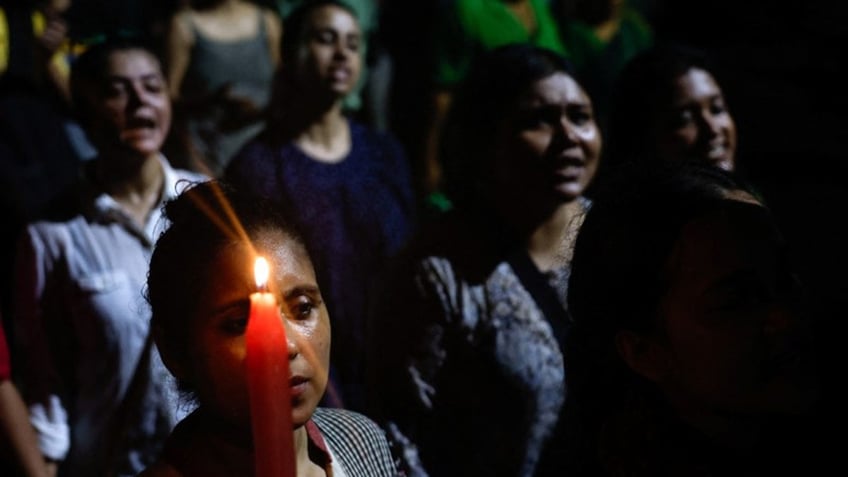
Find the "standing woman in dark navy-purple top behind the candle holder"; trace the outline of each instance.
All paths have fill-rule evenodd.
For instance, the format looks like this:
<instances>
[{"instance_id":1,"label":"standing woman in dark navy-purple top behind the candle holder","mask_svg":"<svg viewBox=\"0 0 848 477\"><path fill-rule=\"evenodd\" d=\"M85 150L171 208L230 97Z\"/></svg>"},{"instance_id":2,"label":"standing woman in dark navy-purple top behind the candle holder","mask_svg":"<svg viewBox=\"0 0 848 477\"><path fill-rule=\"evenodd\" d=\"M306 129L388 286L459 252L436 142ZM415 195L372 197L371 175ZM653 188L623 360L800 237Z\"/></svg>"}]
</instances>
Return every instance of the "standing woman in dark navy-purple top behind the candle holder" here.
<instances>
[{"instance_id":1,"label":"standing woman in dark navy-purple top behind the candle holder","mask_svg":"<svg viewBox=\"0 0 848 477\"><path fill-rule=\"evenodd\" d=\"M362 57L359 23L336 1L288 17L268 126L233 159L228 180L294 204L333 317L326 404L361 409L369 290L413 225L409 166L399 143L347 118L344 97Z\"/></svg>"}]
</instances>

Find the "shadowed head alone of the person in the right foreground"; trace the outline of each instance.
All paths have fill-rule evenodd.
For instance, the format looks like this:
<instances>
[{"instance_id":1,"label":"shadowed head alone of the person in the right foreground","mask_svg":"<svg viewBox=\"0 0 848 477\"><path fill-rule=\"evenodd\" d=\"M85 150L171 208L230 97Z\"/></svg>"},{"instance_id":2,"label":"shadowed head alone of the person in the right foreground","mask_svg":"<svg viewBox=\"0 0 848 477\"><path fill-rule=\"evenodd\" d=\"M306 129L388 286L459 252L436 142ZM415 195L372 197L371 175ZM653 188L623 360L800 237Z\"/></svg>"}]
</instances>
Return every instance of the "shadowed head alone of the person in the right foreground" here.
<instances>
[{"instance_id":1,"label":"shadowed head alone of the person in the right foreground","mask_svg":"<svg viewBox=\"0 0 848 477\"><path fill-rule=\"evenodd\" d=\"M703 163L618 173L574 248L565 362L577 419L610 436L621 428L605 421L642 405L702 431L806 411L799 284L754 191Z\"/></svg>"}]
</instances>

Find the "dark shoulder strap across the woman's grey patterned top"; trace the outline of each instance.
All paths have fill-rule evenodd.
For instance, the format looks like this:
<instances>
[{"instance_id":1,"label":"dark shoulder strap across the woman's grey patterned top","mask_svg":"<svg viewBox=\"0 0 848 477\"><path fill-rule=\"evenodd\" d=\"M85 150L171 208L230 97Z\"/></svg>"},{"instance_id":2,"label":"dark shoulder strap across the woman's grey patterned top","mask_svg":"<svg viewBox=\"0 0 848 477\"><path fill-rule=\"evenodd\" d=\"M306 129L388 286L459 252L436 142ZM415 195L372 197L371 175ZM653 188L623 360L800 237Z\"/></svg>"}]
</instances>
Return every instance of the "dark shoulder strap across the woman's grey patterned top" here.
<instances>
[{"instance_id":1,"label":"dark shoulder strap across the woman's grey patterned top","mask_svg":"<svg viewBox=\"0 0 848 477\"><path fill-rule=\"evenodd\" d=\"M512 267L530 296L533 297L533 301L542 310L542 314L545 315L545 319L551 325L554 337L559 343L560 351L563 351L565 349L565 336L571 324L571 316L568 314L568 310L559 301L556 292L551 288L542 272L536 268L536 264L530 259L526 250L523 248L516 250L507 259L507 263Z\"/></svg>"}]
</instances>

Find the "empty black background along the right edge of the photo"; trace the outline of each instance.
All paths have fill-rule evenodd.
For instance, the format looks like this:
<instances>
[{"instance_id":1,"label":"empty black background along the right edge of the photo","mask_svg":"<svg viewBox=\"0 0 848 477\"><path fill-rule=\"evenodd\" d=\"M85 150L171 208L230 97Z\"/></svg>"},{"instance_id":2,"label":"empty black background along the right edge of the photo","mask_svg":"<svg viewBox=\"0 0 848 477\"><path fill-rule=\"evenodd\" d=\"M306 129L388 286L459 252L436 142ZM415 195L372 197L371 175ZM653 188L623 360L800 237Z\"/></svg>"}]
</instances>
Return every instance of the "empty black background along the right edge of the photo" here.
<instances>
[{"instance_id":1,"label":"empty black background along the right edge of the photo","mask_svg":"<svg viewBox=\"0 0 848 477\"><path fill-rule=\"evenodd\" d=\"M848 310L848 7L845 2L654 1L660 40L719 65L739 136L737 164L791 245L814 307L825 414L841 409ZM835 418L835 415L833 416Z\"/></svg>"}]
</instances>

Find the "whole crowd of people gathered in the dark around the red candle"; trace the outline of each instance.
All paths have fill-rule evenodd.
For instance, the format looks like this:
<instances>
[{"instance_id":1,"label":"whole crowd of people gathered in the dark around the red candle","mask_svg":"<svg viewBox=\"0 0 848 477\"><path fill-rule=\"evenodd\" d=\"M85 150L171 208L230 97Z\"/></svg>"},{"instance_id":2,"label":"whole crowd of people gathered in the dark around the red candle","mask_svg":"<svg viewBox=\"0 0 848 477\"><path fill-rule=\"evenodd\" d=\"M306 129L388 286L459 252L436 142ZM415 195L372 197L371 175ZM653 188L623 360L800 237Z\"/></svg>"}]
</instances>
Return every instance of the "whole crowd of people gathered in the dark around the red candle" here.
<instances>
[{"instance_id":1,"label":"whole crowd of people gathered in the dark around the red candle","mask_svg":"<svg viewBox=\"0 0 848 477\"><path fill-rule=\"evenodd\" d=\"M300 476L829 469L848 284L664 3L0 3L0 474L254 475L257 255Z\"/></svg>"}]
</instances>

